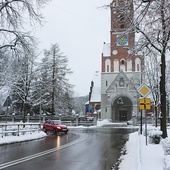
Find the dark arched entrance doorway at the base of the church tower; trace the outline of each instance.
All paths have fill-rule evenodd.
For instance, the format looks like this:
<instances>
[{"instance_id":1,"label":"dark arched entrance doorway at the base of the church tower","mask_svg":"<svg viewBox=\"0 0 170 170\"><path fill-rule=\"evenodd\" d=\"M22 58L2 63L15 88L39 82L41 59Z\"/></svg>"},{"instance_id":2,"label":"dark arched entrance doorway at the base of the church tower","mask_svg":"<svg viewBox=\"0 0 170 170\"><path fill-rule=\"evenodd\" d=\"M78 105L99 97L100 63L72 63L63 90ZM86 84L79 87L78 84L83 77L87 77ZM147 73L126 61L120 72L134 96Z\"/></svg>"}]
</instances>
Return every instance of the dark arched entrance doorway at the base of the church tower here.
<instances>
[{"instance_id":1,"label":"dark arched entrance doorway at the base of the church tower","mask_svg":"<svg viewBox=\"0 0 170 170\"><path fill-rule=\"evenodd\" d=\"M117 97L112 105L112 120L127 121L131 119L132 111L133 103L128 97Z\"/></svg>"}]
</instances>

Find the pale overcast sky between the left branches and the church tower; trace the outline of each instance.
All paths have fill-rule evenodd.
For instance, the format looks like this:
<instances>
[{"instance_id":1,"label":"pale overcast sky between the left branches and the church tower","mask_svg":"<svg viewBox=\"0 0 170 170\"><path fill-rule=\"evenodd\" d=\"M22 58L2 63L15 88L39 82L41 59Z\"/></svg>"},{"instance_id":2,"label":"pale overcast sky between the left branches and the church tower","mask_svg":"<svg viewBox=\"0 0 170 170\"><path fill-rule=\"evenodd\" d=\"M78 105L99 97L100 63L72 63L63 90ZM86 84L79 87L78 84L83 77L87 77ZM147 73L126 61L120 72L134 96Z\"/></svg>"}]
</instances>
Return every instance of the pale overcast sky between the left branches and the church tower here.
<instances>
[{"instance_id":1,"label":"pale overcast sky between the left branches and the church tower","mask_svg":"<svg viewBox=\"0 0 170 170\"><path fill-rule=\"evenodd\" d=\"M52 0L42 14L46 23L36 29L39 49L58 43L73 71L76 96L88 95L95 71L101 70L103 42L110 41L111 0Z\"/></svg>"}]
</instances>

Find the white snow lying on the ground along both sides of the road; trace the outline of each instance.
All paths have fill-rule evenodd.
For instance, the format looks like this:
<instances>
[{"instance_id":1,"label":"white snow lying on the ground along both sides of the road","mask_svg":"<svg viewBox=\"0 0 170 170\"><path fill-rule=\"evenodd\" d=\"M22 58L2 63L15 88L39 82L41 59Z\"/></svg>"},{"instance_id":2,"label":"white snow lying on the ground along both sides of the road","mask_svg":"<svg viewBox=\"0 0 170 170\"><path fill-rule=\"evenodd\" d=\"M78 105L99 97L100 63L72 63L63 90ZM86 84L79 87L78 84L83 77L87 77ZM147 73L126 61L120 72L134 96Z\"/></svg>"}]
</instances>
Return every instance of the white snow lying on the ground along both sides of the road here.
<instances>
[{"instance_id":1,"label":"white snow lying on the ground along both sides of the road","mask_svg":"<svg viewBox=\"0 0 170 170\"><path fill-rule=\"evenodd\" d=\"M107 120L98 121L97 126L111 124ZM70 128L83 128L70 127ZM87 128L87 127L86 127ZM44 132L27 133L20 136L5 136L0 139L0 144L14 143L25 140L33 140L45 137ZM168 128L167 139L162 139L160 144L146 142L146 136L138 132L131 133L129 140L126 142L120 158L120 170L170 170L170 129ZM167 152L165 152L165 149ZM114 170L114 169L112 169Z\"/></svg>"}]
</instances>

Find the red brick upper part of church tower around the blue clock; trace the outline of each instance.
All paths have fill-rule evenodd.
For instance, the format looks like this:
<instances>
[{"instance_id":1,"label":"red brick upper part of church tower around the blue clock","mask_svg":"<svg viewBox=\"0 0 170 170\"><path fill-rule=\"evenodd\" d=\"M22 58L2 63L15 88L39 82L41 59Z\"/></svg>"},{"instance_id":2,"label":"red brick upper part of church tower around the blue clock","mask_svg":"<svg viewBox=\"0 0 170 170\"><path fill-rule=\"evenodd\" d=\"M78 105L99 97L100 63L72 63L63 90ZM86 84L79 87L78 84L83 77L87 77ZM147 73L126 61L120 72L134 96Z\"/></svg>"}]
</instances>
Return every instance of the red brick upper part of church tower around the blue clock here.
<instances>
[{"instance_id":1,"label":"red brick upper part of church tower around the blue clock","mask_svg":"<svg viewBox=\"0 0 170 170\"><path fill-rule=\"evenodd\" d=\"M118 3L118 4L117 4ZM131 61L131 71L135 70L135 59L139 56L134 56L129 53L129 49L135 44L135 32L133 30L127 31L130 28L130 21L133 18L133 1L132 0L113 0L110 4L111 10L111 31L110 31L110 54L107 56L102 53L102 72L107 72L106 60L110 61L110 71L115 72L117 69L120 71L122 64L125 70L127 70L127 61ZM126 44L118 44L118 36L126 36ZM116 53L114 53L116 51ZM113 54L114 53L114 54ZM114 68L115 60L119 63L118 68Z\"/></svg>"}]
</instances>

